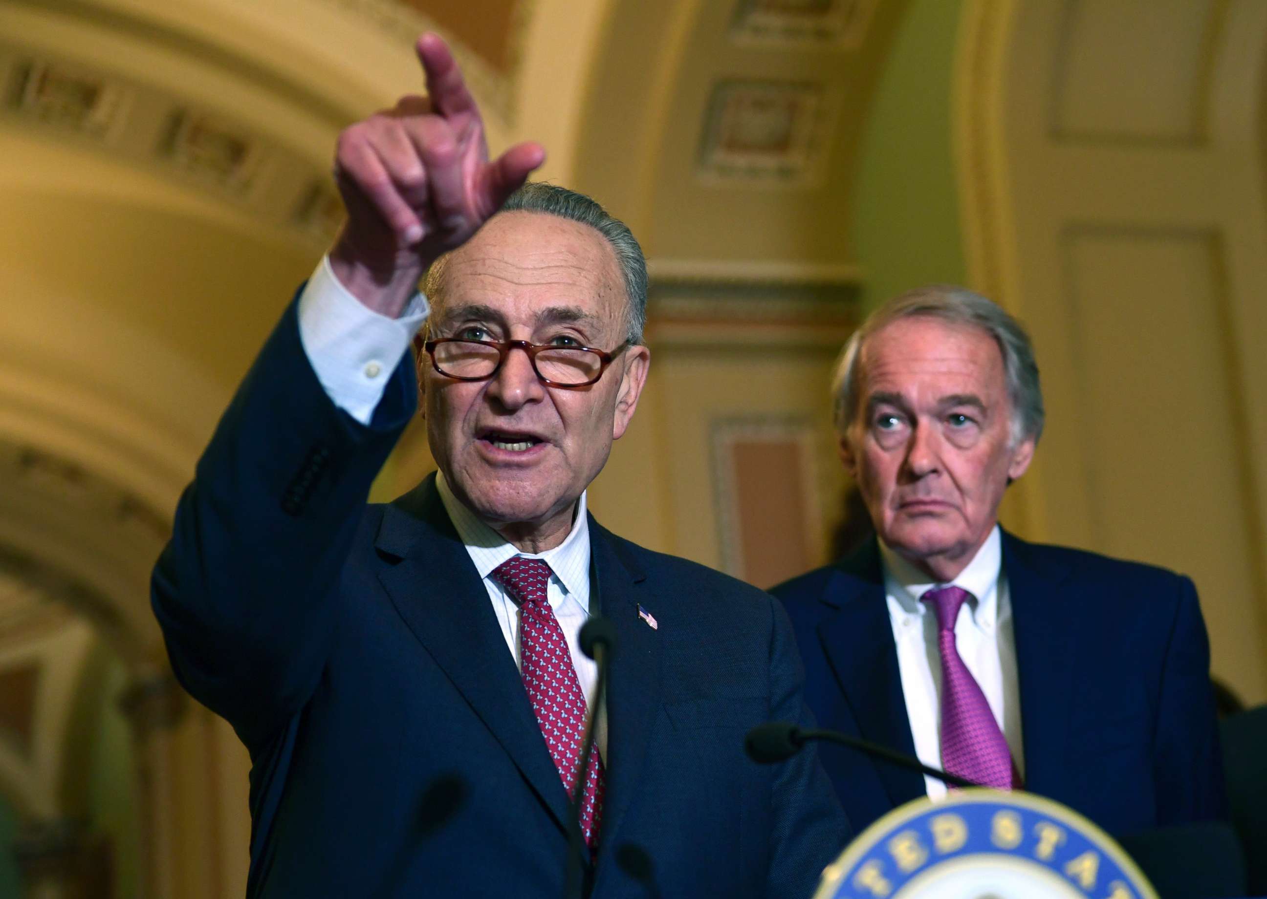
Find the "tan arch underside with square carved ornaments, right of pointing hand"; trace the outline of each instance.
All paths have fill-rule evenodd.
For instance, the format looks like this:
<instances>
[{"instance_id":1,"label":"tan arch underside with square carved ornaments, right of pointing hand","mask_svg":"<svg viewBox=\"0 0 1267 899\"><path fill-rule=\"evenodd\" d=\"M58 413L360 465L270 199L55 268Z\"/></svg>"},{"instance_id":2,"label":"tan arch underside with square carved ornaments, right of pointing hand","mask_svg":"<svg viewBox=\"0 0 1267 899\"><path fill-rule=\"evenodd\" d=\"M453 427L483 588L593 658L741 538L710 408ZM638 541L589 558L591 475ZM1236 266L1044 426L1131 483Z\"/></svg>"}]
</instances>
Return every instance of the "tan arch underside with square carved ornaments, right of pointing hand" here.
<instances>
[{"instance_id":1,"label":"tan arch underside with square carved ornaments, right of pointing hand","mask_svg":"<svg viewBox=\"0 0 1267 899\"><path fill-rule=\"evenodd\" d=\"M631 223L654 273L856 279L848 223L858 144L905 5L613 6L576 184Z\"/></svg>"}]
</instances>

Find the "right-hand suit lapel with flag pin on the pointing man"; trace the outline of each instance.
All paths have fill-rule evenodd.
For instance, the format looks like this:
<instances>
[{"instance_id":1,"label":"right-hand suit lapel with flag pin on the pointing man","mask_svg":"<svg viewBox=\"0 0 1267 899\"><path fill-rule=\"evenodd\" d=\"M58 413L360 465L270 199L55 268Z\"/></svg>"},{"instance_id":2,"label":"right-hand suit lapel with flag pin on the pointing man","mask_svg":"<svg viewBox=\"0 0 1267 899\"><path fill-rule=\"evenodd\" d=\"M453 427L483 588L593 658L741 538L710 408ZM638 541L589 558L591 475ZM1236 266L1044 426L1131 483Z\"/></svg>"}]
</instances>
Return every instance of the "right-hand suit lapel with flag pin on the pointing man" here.
<instances>
[{"instance_id":1,"label":"right-hand suit lapel with flag pin on the pointing man","mask_svg":"<svg viewBox=\"0 0 1267 899\"><path fill-rule=\"evenodd\" d=\"M664 614L656 608L663 596L644 595L640 584L646 580L637 562L622 552L621 544L593 517L589 539L594 553L593 571L601 580L592 585L592 596L601 599L601 613L616 628L607 685L607 747L606 795L599 839L598 872L611 869L611 855L618 843L617 834L630 803L639 791L647 741L660 708L660 633L639 618L641 601L653 615ZM598 588L594 590L594 588ZM594 609L590 609L594 612Z\"/></svg>"}]
</instances>

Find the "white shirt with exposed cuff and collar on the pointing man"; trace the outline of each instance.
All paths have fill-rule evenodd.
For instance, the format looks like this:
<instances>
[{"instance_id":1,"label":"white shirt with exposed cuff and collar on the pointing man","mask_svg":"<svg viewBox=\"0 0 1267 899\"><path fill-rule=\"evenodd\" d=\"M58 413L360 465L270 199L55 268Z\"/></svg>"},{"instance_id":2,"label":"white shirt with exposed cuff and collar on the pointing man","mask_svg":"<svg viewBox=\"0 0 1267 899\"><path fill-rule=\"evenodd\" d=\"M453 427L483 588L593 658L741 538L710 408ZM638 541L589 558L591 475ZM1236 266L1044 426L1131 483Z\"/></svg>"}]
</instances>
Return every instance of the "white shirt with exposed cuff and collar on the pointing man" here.
<instances>
[{"instance_id":1,"label":"white shirt with exposed cuff and collar on the pointing man","mask_svg":"<svg viewBox=\"0 0 1267 899\"><path fill-rule=\"evenodd\" d=\"M409 301L398 319L367 309L338 281L327 256L322 257L299 298L299 338L317 380L331 401L361 424L369 424L392 372L409 351L409 342L428 314L427 299L421 292ZM546 585L546 599L563 627L580 689L585 694L585 705L592 709L598 686L598 667L580 651L579 643L580 627L589 618L589 518L585 514L585 494L576 501L571 531L564 542L546 552L527 553L519 552L479 520L454 496L445 476L438 472L436 487L445 512L484 581L516 666L519 665L519 609L490 574L514 556L541 558L550 565L554 575ZM606 758L606 713L598 717L594 741Z\"/></svg>"}]
</instances>

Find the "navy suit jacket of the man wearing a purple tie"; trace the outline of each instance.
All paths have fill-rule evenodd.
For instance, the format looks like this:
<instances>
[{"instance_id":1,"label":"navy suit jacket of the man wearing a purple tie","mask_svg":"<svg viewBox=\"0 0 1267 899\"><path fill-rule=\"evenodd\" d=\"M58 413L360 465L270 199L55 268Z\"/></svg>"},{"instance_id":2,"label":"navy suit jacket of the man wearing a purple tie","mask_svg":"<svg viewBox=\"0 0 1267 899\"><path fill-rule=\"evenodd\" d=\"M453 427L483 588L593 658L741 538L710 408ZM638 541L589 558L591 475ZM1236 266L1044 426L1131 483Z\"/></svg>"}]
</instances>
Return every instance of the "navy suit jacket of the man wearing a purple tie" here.
<instances>
[{"instance_id":1,"label":"navy suit jacket of the man wearing a purple tie","mask_svg":"<svg viewBox=\"0 0 1267 899\"><path fill-rule=\"evenodd\" d=\"M1025 789L1111 833L1226 817L1210 651L1187 577L1003 533ZM915 755L874 539L773 590L821 727ZM825 747L854 827L925 795L924 776Z\"/></svg>"}]
</instances>

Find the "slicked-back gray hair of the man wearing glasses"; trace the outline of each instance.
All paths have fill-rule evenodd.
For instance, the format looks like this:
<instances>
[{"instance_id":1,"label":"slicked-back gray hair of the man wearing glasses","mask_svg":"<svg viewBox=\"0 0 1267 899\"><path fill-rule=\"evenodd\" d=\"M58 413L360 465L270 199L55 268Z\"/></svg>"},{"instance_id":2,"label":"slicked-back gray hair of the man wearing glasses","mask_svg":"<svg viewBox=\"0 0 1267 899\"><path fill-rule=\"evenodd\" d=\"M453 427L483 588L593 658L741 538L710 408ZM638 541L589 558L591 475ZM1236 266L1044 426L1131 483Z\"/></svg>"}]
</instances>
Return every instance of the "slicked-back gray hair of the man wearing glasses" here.
<instances>
[{"instance_id":1,"label":"slicked-back gray hair of the man wearing glasses","mask_svg":"<svg viewBox=\"0 0 1267 899\"><path fill-rule=\"evenodd\" d=\"M526 211L557 215L588 225L603 236L621 270L625 284L625 337L630 343L642 343L646 325L646 258L634 232L603 209L597 200L559 185L530 181L502 204L502 213ZM422 279L422 289L432 296L442 289L445 260L432 263Z\"/></svg>"}]
</instances>

